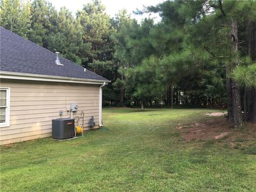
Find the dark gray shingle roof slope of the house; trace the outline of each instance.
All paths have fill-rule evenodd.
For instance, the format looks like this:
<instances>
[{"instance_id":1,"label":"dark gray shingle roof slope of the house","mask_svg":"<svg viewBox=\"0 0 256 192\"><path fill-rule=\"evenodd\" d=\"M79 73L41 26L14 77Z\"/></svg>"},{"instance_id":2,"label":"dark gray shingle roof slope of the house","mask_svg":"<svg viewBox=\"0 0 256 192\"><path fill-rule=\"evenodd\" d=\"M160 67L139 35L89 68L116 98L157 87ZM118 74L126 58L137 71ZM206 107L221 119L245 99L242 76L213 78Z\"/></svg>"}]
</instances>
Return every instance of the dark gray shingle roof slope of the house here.
<instances>
[{"instance_id":1,"label":"dark gray shingle roof slope of the house","mask_svg":"<svg viewBox=\"0 0 256 192\"><path fill-rule=\"evenodd\" d=\"M59 57L64 66L56 65L56 54L0 27L0 70L14 73L74 77L107 81L65 58Z\"/></svg>"}]
</instances>

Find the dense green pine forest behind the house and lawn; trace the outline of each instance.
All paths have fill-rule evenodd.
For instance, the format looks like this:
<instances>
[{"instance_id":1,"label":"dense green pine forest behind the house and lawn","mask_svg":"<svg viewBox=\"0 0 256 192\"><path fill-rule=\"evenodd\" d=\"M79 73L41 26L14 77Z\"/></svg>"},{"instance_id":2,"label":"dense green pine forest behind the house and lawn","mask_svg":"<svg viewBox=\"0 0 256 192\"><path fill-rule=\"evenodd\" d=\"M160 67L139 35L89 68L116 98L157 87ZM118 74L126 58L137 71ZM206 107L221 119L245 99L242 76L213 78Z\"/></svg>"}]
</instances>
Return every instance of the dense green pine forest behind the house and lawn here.
<instances>
[{"instance_id":1,"label":"dense green pine forest behind the house and lawn","mask_svg":"<svg viewBox=\"0 0 256 192\"><path fill-rule=\"evenodd\" d=\"M165 1L110 18L100 1L74 16L45 0L1 1L1 26L108 78L105 106L223 107L256 122L256 2Z\"/></svg>"}]
</instances>

